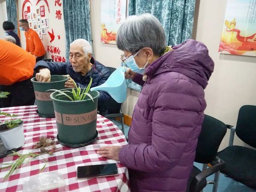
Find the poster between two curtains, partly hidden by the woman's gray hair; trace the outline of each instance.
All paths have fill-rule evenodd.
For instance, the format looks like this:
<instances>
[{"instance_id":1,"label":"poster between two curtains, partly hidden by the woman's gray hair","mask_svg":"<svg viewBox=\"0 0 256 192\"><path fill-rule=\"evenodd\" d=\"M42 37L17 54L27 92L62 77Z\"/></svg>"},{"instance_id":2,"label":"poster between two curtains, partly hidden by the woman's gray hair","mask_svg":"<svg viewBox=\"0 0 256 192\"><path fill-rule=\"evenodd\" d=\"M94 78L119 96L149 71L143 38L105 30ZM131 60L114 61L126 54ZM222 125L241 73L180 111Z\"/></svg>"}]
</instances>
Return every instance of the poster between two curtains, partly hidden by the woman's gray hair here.
<instances>
[{"instance_id":1,"label":"poster between two curtains, partly hidden by the woman's gray hair","mask_svg":"<svg viewBox=\"0 0 256 192\"><path fill-rule=\"evenodd\" d=\"M126 0L101 1L101 42L116 44L116 32L125 21Z\"/></svg>"}]
</instances>

